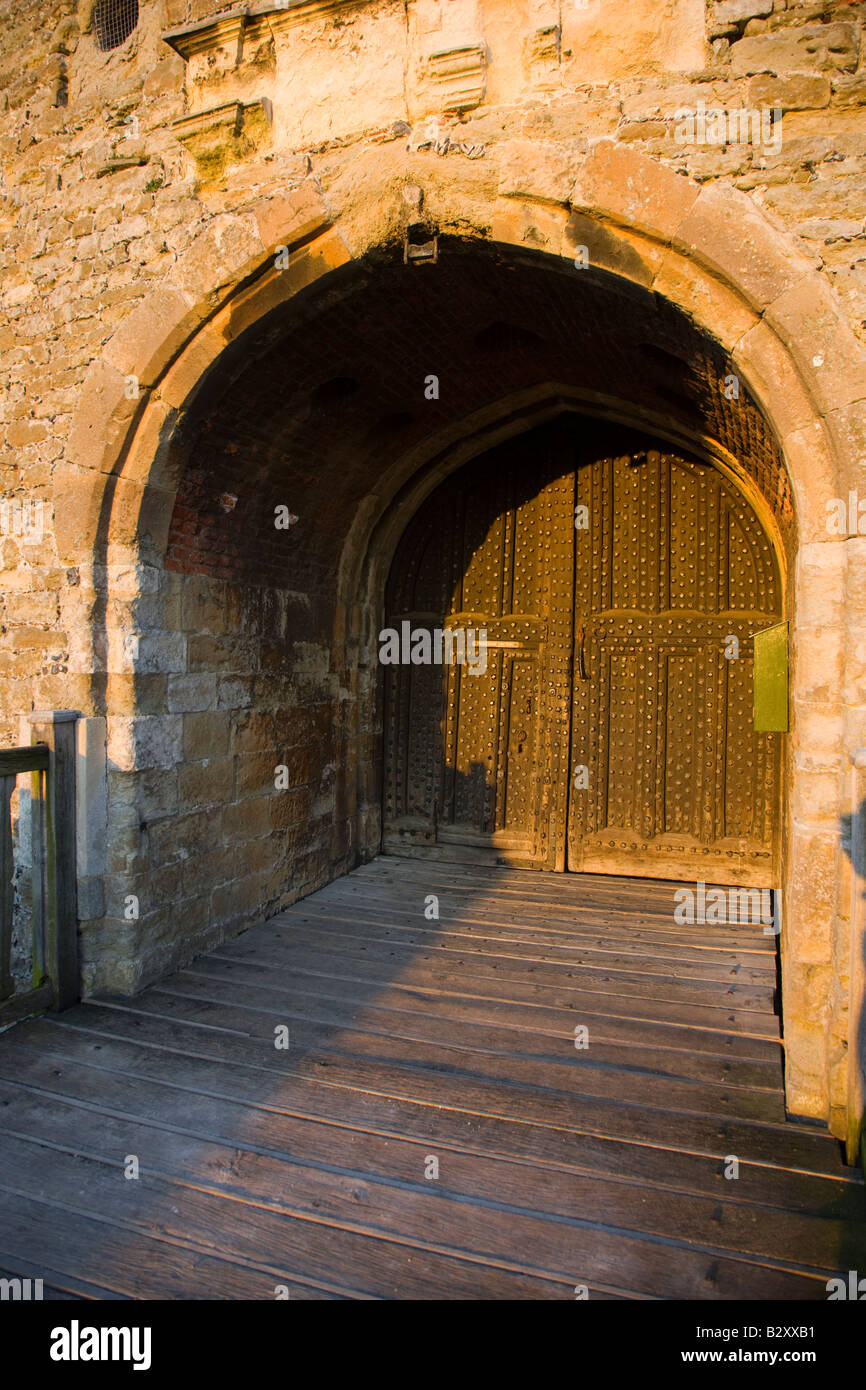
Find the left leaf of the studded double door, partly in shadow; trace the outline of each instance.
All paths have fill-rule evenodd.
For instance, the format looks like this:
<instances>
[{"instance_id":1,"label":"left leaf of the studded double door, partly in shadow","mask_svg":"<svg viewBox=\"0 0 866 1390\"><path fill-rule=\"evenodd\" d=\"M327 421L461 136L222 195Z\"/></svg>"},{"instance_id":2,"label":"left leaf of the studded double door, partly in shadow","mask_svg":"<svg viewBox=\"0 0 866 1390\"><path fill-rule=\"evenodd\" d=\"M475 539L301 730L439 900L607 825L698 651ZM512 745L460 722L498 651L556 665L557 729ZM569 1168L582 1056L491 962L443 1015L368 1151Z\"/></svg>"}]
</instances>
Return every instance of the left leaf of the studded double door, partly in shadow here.
<instances>
[{"instance_id":1,"label":"left leaf of the studded double door, partly in shadow","mask_svg":"<svg viewBox=\"0 0 866 1390\"><path fill-rule=\"evenodd\" d=\"M487 666L386 667L385 852L564 867L573 574L573 453L556 428L421 507L386 624L484 631Z\"/></svg>"}]
</instances>

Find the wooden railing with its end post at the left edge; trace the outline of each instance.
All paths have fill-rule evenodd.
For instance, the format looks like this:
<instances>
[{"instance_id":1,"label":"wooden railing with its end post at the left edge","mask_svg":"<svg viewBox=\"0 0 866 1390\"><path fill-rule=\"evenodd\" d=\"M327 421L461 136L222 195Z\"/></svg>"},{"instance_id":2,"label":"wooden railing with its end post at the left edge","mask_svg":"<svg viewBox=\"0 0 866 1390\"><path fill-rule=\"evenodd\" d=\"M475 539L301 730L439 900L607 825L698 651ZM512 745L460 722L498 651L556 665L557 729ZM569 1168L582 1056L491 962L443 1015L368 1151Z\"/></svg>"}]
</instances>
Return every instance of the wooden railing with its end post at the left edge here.
<instances>
[{"instance_id":1,"label":"wooden railing with its end post at the left edge","mask_svg":"<svg viewBox=\"0 0 866 1390\"><path fill-rule=\"evenodd\" d=\"M75 710L31 714L32 744L0 749L0 1026L40 1009L67 1009L79 994L75 877ZM11 798L31 773L31 981L11 969L14 862Z\"/></svg>"}]
</instances>

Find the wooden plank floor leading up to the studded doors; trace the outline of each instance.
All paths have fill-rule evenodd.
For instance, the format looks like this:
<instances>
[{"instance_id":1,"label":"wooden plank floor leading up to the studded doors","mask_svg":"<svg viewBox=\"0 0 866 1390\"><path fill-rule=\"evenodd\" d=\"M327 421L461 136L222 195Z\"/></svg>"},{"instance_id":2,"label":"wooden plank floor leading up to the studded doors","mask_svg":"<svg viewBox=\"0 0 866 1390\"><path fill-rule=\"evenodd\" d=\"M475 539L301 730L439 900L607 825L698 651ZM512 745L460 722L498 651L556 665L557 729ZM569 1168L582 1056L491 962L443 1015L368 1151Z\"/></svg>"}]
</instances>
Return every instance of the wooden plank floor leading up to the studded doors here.
<instances>
[{"instance_id":1,"label":"wooden plank floor leading up to the studded doors","mask_svg":"<svg viewBox=\"0 0 866 1390\"><path fill-rule=\"evenodd\" d=\"M774 940L678 926L674 891L381 858L135 999L18 1024L0 1277L826 1298L866 1268L863 1182L785 1120Z\"/></svg>"}]
</instances>

